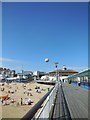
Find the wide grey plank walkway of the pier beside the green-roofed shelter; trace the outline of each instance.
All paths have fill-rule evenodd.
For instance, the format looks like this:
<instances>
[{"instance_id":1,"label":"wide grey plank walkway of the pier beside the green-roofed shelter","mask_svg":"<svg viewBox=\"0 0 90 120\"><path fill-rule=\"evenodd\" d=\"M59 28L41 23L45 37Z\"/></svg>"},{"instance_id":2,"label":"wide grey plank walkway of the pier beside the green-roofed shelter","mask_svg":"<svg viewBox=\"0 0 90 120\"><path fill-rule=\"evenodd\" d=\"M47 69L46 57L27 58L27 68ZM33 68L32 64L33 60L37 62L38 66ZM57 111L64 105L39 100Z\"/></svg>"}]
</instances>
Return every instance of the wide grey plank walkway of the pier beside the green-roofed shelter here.
<instances>
[{"instance_id":1,"label":"wide grey plank walkway of the pier beside the green-roofed shelter","mask_svg":"<svg viewBox=\"0 0 90 120\"><path fill-rule=\"evenodd\" d=\"M63 83L62 89L71 118L88 118L88 91L72 84Z\"/></svg>"}]
</instances>

